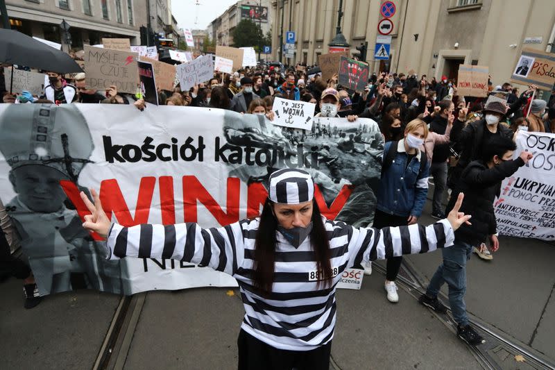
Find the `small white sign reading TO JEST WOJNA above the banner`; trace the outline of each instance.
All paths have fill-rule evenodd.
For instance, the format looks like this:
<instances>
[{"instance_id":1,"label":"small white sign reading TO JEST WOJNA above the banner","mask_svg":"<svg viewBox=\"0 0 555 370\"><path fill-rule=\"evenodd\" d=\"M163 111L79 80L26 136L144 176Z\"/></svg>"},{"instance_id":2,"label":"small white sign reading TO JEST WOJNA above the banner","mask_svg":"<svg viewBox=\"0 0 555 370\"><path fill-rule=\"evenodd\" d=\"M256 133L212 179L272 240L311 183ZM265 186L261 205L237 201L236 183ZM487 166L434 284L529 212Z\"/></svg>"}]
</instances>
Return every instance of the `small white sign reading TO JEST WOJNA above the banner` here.
<instances>
[{"instance_id":1,"label":"small white sign reading TO JEST WOJNA above the banner","mask_svg":"<svg viewBox=\"0 0 555 370\"><path fill-rule=\"evenodd\" d=\"M314 103L275 98L272 108L275 113L273 124L310 130L315 108L316 104Z\"/></svg>"}]
</instances>

